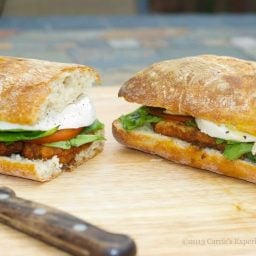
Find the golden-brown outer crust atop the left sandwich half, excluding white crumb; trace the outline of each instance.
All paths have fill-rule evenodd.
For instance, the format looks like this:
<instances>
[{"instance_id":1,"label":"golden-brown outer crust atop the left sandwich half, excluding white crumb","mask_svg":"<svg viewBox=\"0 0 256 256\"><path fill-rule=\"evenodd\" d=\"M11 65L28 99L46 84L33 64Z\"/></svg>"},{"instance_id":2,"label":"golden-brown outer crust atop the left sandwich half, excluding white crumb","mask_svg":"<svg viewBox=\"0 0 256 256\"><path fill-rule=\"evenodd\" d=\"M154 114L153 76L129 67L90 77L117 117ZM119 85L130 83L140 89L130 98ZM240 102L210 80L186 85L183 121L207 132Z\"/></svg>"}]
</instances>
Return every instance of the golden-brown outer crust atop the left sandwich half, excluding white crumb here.
<instances>
[{"instance_id":1,"label":"golden-brown outer crust atop the left sandwich half, excluding white crumb","mask_svg":"<svg viewBox=\"0 0 256 256\"><path fill-rule=\"evenodd\" d=\"M51 93L49 84L61 74L77 69L99 80L97 72L87 66L0 57L0 121L35 123L41 105Z\"/></svg>"}]
</instances>

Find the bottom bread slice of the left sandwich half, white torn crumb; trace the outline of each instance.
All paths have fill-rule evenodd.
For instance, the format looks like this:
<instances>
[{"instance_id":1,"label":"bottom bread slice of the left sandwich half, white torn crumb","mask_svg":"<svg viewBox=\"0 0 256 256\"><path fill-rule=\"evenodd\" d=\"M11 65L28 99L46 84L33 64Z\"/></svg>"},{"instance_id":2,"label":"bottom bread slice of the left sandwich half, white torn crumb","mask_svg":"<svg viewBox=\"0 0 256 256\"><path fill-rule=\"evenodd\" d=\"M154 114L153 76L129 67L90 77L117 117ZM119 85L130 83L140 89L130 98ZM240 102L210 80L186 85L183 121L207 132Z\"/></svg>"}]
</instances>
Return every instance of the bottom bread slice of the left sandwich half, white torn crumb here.
<instances>
[{"instance_id":1,"label":"bottom bread slice of the left sandwich half, white torn crumb","mask_svg":"<svg viewBox=\"0 0 256 256\"><path fill-rule=\"evenodd\" d=\"M49 160L30 160L17 154L13 154L10 157L2 156L0 157L0 173L40 182L48 181L58 176L61 172L73 170L93 158L103 150L103 146L103 141L92 142L88 148L75 156L75 161L69 166L63 166L57 156Z\"/></svg>"}]
</instances>

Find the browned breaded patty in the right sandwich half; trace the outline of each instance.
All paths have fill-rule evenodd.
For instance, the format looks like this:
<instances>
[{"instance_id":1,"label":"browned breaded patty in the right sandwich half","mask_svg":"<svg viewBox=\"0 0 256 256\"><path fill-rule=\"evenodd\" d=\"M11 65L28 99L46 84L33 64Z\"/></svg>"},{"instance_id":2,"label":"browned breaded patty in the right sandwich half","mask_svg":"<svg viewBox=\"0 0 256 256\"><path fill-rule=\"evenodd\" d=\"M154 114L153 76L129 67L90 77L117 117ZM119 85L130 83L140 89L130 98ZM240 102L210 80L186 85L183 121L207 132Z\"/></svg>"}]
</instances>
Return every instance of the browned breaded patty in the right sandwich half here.
<instances>
[{"instance_id":1,"label":"browned breaded patty in the right sandwich half","mask_svg":"<svg viewBox=\"0 0 256 256\"><path fill-rule=\"evenodd\" d=\"M209 147L218 149L220 151L224 150L224 145L216 144L215 138L212 138L209 135L202 133L197 127L186 125L185 122L163 120L156 123L153 127L156 133L175 137L197 145L199 147Z\"/></svg>"}]
</instances>

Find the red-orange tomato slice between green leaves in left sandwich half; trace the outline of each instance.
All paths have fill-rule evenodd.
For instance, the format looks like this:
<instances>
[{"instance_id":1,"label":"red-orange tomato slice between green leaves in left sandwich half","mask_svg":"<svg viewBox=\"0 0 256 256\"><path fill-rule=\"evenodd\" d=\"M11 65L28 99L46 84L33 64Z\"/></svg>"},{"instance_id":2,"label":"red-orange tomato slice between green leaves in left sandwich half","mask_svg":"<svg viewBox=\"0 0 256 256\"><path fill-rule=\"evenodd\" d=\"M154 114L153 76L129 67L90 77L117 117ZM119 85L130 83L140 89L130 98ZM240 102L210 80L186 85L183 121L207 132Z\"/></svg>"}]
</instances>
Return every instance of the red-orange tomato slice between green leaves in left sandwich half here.
<instances>
[{"instance_id":1,"label":"red-orange tomato slice between green leaves in left sandwich half","mask_svg":"<svg viewBox=\"0 0 256 256\"><path fill-rule=\"evenodd\" d=\"M28 142L35 143L35 144L46 144L46 143L52 143L56 141L69 140L76 137L82 130L83 130L83 127L77 128L77 129L63 129L55 132L50 136L46 136L46 137L35 139L35 140L30 140Z\"/></svg>"}]
</instances>

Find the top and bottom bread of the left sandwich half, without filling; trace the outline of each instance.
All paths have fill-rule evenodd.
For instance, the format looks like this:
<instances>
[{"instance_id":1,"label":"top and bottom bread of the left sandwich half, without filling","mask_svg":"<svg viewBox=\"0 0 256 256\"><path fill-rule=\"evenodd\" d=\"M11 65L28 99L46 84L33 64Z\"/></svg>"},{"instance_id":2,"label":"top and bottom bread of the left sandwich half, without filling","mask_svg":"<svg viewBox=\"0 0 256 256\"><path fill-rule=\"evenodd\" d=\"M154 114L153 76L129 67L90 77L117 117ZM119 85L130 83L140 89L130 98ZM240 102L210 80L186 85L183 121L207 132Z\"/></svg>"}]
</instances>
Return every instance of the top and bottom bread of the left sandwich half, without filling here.
<instances>
[{"instance_id":1,"label":"top and bottom bread of the left sandwich half, without filling","mask_svg":"<svg viewBox=\"0 0 256 256\"><path fill-rule=\"evenodd\" d=\"M99 80L94 69L83 65L0 57L0 121L37 124L49 113L61 112L81 95L87 96L89 88ZM104 131L97 133L103 135ZM0 156L0 173L47 181L64 169L71 170L84 163L102 149L103 141L94 141L65 165L57 156L51 159L27 159L20 154Z\"/></svg>"}]
</instances>

